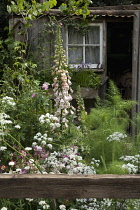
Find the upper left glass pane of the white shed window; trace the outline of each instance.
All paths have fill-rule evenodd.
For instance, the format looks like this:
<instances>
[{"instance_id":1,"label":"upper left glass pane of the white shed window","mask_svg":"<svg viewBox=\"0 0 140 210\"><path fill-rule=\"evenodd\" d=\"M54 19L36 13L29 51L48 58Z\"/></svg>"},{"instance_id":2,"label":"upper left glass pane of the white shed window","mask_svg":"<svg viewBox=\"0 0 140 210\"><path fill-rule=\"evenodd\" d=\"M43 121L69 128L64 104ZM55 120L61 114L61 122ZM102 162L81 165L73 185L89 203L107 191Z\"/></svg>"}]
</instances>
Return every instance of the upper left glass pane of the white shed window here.
<instances>
[{"instance_id":1,"label":"upper left glass pane of the white shed window","mask_svg":"<svg viewBox=\"0 0 140 210\"><path fill-rule=\"evenodd\" d=\"M68 28L68 44L83 44L83 36L73 27Z\"/></svg>"}]
</instances>

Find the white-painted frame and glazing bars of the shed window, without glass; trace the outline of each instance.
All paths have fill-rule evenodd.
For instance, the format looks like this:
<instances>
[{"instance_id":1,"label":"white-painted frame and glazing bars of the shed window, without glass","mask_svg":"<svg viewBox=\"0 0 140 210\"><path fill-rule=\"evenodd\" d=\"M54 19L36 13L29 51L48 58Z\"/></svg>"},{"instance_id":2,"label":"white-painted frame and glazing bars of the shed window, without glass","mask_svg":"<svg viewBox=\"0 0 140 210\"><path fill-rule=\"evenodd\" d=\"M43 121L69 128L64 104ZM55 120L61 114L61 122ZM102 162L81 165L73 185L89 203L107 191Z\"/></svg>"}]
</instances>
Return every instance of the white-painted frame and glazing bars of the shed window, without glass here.
<instances>
[{"instance_id":1,"label":"white-painted frame and glazing bars of the shed window, without glass","mask_svg":"<svg viewBox=\"0 0 140 210\"><path fill-rule=\"evenodd\" d=\"M71 67L71 68L78 68L79 65L81 65L81 63L79 64L69 64L69 51L68 48L69 46L80 46L82 47L82 55L83 55L83 68L87 68L87 64L85 63L85 47L86 46L99 46L100 49L100 54L99 54L99 60L100 63L98 64L88 64L88 68L92 68L92 69L100 69L102 67L103 64L103 23L89 23L89 26L99 26L99 40L100 43L99 44L85 44L85 35L83 35L83 44L69 44L68 43L68 27L66 29L66 56L67 56L67 64ZM84 65L85 64L85 65Z\"/></svg>"}]
</instances>

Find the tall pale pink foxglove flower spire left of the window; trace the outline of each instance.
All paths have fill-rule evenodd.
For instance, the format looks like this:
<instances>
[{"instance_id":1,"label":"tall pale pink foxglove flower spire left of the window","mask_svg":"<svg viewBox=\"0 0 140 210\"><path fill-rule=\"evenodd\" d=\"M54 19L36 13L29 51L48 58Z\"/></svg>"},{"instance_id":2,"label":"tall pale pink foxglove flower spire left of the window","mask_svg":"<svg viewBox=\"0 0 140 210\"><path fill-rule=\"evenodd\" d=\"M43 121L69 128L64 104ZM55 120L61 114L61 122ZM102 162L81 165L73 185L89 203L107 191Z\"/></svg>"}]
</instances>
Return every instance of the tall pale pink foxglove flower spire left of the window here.
<instances>
[{"instance_id":1,"label":"tall pale pink foxglove flower spire left of the window","mask_svg":"<svg viewBox=\"0 0 140 210\"><path fill-rule=\"evenodd\" d=\"M60 33L57 37L57 44L55 46L55 66L53 67L53 91L55 95L55 106L57 107L55 116L57 116L66 128L68 127L68 115L73 115L75 108L71 106L71 93L73 93L71 86L71 77L67 70L65 51L63 50Z\"/></svg>"}]
</instances>

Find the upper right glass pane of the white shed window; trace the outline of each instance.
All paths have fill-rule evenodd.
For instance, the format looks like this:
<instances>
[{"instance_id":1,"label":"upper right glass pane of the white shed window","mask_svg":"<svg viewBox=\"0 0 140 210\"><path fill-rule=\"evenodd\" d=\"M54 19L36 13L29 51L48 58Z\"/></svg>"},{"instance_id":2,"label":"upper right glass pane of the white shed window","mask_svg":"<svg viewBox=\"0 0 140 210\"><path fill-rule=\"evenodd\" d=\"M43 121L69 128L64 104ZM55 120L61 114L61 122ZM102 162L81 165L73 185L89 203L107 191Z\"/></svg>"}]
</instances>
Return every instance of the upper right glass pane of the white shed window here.
<instances>
[{"instance_id":1,"label":"upper right glass pane of the white shed window","mask_svg":"<svg viewBox=\"0 0 140 210\"><path fill-rule=\"evenodd\" d=\"M100 27L90 26L85 36L86 44L100 44Z\"/></svg>"}]
</instances>

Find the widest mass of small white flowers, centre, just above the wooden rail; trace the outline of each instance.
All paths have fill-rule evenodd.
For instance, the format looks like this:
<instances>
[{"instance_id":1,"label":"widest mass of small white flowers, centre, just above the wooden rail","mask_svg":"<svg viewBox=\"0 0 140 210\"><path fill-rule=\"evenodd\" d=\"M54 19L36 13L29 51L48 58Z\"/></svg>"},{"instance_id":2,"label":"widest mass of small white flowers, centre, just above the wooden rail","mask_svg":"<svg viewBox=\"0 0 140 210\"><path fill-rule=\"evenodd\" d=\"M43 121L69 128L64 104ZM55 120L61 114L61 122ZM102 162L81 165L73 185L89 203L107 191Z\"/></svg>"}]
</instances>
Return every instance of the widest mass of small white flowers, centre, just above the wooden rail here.
<instances>
[{"instance_id":1,"label":"widest mass of small white flowers, centre, just above the wooden rail","mask_svg":"<svg viewBox=\"0 0 140 210\"><path fill-rule=\"evenodd\" d=\"M96 174L94 166L82 162L77 147L64 148L62 152L53 152L45 159L53 173Z\"/></svg>"}]
</instances>

